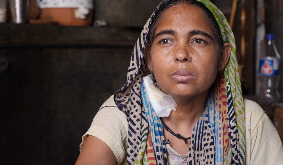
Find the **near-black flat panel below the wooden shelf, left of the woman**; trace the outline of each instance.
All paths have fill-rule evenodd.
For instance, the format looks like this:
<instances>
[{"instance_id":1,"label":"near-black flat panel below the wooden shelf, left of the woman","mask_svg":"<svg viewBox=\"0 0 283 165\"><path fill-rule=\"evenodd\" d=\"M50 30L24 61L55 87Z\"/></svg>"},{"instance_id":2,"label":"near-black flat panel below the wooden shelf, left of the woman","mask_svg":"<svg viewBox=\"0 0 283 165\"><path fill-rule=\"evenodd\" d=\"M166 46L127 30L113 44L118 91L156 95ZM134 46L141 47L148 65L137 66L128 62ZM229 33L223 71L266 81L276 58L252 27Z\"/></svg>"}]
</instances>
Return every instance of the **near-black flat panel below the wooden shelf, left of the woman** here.
<instances>
[{"instance_id":1,"label":"near-black flat panel below the wooden shelf, left of the woman","mask_svg":"<svg viewBox=\"0 0 283 165\"><path fill-rule=\"evenodd\" d=\"M1 164L75 164L98 108L126 82L131 51L2 49Z\"/></svg>"}]
</instances>

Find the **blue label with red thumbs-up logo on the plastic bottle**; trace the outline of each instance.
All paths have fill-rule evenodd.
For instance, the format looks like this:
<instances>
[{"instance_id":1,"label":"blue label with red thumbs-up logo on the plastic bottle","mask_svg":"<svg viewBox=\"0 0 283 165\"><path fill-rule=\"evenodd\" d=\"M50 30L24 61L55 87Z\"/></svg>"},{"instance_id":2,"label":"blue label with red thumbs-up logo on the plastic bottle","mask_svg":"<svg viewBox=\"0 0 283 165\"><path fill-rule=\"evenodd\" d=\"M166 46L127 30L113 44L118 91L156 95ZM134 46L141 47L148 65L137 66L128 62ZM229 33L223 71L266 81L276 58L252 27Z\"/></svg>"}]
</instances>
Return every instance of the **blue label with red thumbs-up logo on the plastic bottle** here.
<instances>
[{"instance_id":1,"label":"blue label with red thumbs-up logo on the plastic bottle","mask_svg":"<svg viewBox=\"0 0 283 165\"><path fill-rule=\"evenodd\" d=\"M259 75L263 76L277 76L279 75L279 60L278 59L260 59Z\"/></svg>"}]
</instances>

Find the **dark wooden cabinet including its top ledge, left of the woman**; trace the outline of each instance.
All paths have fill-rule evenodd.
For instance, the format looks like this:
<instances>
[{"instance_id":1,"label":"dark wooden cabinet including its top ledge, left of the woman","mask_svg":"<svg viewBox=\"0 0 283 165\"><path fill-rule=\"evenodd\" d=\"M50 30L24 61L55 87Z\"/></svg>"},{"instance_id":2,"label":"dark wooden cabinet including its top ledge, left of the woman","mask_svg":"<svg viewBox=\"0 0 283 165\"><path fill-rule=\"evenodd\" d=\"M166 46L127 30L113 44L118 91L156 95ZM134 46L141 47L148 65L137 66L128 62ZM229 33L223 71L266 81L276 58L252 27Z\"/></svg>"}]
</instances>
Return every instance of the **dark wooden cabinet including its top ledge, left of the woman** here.
<instances>
[{"instance_id":1,"label":"dark wooden cabinet including its top ledge, left of the woman","mask_svg":"<svg viewBox=\"0 0 283 165\"><path fill-rule=\"evenodd\" d=\"M127 80L140 31L0 24L0 164L75 164L99 107Z\"/></svg>"}]
</instances>

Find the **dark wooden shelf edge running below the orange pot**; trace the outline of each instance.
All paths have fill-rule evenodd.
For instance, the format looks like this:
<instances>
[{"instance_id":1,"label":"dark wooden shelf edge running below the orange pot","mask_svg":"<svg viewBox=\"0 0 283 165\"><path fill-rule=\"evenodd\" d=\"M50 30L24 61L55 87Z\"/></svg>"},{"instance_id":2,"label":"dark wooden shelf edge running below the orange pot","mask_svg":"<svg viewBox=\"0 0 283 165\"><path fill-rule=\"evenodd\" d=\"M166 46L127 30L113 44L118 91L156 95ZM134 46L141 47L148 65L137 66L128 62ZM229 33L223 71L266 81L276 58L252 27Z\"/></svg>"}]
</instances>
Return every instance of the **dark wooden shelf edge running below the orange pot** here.
<instances>
[{"instance_id":1,"label":"dark wooden shelf edge running below the orange pot","mask_svg":"<svg viewBox=\"0 0 283 165\"><path fill-rule=\"evenodd\" d=\"M140 28L0 24L0 48L134 47Z\"/></svg>"}]
</instances>

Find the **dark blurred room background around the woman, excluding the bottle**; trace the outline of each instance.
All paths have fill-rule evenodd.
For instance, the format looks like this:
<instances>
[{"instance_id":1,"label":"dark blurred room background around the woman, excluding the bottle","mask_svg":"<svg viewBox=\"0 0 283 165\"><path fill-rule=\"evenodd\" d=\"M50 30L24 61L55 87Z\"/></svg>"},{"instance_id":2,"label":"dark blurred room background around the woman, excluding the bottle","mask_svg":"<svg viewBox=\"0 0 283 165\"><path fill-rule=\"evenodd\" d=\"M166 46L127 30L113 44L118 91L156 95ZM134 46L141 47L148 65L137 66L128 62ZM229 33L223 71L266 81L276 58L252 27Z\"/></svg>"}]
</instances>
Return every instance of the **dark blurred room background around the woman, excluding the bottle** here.
<instances>
[{"instance_id":1,"label":"dark blurred room background around the woman, excluding the bottle","mask_svg":"<svg viewBox=\"0 0 283 165\"><path fill-rule=\"evenodd\" d=\"M133 47L161 0L0 0L0 164L75 164L98 108L125 82ZM213 0L235 35L244 97L283 140L283 0ZM259 101L267 33L280 99Z\"/></svg>"}]
</instances>

